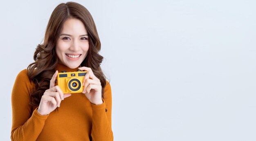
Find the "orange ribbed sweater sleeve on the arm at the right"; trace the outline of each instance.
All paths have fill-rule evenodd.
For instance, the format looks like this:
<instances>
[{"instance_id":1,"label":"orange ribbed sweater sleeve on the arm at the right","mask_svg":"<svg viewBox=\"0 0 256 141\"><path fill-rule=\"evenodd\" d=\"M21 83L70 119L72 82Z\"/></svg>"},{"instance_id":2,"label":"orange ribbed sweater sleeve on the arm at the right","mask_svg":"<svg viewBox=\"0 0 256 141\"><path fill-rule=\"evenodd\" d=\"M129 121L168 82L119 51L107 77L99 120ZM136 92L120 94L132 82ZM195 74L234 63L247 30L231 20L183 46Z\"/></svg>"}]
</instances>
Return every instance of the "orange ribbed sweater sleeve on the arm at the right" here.
<instances>
[{"instance_id":1,"label":"orange ribbed sweater sleeve on the arm at the right","mask_svg":"<svg viewBox=\"0 0 256 141\"><path fill-rule=\"evenodd\" d=\"M92 106L92 141L113 141L111 127L112 93L110 83L107 81L103 103Z\"/></svg>"}]
</instances>

